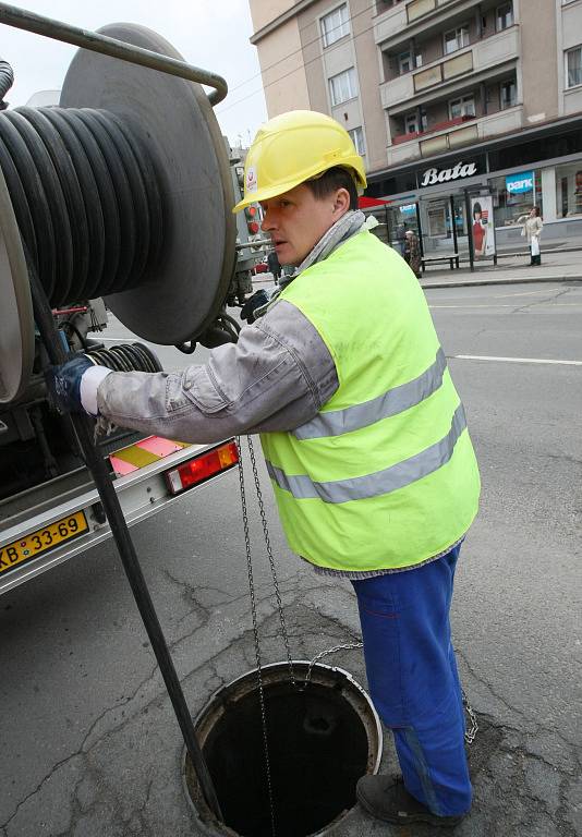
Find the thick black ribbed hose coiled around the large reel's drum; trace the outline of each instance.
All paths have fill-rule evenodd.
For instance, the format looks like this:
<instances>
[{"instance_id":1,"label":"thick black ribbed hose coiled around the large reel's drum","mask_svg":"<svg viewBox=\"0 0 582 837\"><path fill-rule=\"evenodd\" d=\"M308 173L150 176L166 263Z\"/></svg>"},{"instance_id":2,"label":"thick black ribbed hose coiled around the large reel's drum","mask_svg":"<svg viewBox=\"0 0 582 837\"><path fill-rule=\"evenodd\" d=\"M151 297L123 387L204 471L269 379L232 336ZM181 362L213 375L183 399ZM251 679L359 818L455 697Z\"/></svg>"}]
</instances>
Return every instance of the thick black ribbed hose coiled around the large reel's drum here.
<instances>
[{"instance_id":1,"label":"thick black ribbed hose coiled around the large reel's drum","mask_svg":"<svg viewBox=\"0 0 582 837\"><path fill-rule=\"evenodd\" d=\"M0 168L52 306L154 278L163 231L156 172L144 143L116 114L2 111Z\"/></svg>"}]
</instances>

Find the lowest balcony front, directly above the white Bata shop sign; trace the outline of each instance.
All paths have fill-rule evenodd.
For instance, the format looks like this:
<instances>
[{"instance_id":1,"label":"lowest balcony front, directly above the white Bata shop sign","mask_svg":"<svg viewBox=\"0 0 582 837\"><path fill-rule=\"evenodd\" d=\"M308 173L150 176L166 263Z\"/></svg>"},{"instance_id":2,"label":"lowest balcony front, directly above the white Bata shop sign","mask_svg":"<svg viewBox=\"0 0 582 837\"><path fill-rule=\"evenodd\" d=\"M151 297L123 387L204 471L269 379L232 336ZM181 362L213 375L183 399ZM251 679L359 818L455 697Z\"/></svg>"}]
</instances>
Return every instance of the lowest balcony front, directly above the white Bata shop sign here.
<instances>
[{"instance_id":1,"label":"lowest balcony front, directly above the white Bata shop sign","mask_svg":"<svg viewBox=\"0 0 582 837\"><path fill-rule=\"evenodd\" d=\"M392 145L387 148L388 165L398 166L407 160L445 154L480 140L520 131L522 120L523 106L514 105L485 117L460 117L422 133L401 134L393 137Z\"/></svg>"}]
</instances>

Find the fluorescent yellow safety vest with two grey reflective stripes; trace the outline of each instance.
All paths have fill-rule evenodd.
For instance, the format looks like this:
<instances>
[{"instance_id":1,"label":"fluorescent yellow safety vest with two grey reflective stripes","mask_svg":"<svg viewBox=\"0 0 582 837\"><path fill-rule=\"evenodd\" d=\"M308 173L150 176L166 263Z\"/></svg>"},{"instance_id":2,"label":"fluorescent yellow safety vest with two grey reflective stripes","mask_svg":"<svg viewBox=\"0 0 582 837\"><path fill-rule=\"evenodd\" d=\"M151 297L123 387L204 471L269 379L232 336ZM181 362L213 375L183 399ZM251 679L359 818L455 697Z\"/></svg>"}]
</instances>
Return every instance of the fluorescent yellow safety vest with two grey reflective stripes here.
<instances>
[{"instance_id":1,"label":"fluorescent yellow safety vest with two grey reflective stripes","mask_svg":"<svg viewBox=\"0 0 582 837\"><path fill-rule=\"evenodd\" d=\"M339 380L315 418L260 437L291 549L366 571L452 546L477 512L478 469L412 270L363 231L279 299L317 329Z\"/></svg>"}]
</instances>

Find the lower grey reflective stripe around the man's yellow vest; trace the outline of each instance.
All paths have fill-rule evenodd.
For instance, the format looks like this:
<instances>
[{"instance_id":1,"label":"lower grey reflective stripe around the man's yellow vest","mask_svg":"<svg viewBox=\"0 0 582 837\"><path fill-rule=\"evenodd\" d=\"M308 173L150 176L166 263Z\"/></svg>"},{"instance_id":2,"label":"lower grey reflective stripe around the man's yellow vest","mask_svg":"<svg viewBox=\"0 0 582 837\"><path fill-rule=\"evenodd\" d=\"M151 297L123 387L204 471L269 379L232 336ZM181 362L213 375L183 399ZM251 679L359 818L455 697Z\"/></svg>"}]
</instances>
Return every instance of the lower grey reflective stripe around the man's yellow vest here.
<instances>
[{"instance_id":1,"label":"lower grey reflective stripe around the man's yellow vest","mask_svg":"<svg viewBox=\"0 0 582 837\"><path fill-rule=\"evenodd\" d=\"M267 470L270 478L279 488L290 492L298 500L319 499L324 502L348 502L349 500L379 497L415 483L446 464L452 457L457 439L465 427L466 420L463 405L459 404L452 416L451 428L442 439L396 465L365 476L314 483L306 474L295 476L286 474L269 461L267 461Z\"/></svg>"}]
</instances>

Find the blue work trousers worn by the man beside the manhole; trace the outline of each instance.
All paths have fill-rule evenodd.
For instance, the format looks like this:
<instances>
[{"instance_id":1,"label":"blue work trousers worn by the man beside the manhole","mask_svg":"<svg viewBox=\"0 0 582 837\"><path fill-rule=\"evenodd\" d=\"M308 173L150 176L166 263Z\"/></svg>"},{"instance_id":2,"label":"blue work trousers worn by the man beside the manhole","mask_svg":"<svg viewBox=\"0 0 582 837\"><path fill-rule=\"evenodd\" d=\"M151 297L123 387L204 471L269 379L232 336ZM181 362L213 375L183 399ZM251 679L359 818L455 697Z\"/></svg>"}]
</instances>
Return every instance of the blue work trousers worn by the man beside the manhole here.
<instances>
[{"instance_id":1,"label":"blue work trousers worn by the man beside the manhole","mask_svg":"<svg viewBox=\"0 0 582 837\"><path fill-rule=\"evenodd\" d=\"M407 790L437 816L471 808L449 623L459 550L417 569L352 582L372 700L393 732Z\"/></svg>"}]
</instances>

